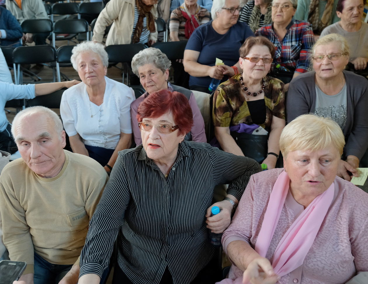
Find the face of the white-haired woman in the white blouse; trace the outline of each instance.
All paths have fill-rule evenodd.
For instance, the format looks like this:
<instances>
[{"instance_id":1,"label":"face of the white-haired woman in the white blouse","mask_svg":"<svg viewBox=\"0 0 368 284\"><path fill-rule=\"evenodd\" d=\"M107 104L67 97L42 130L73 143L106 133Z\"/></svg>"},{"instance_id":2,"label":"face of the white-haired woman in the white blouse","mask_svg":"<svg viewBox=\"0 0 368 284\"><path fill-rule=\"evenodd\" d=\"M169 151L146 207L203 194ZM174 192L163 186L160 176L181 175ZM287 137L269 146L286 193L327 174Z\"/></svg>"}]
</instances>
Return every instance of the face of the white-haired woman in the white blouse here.
<instances>
[{"instance_id":1,"label":"face of the white-haired woman in the white blouse","mask_svg":"<svg viewBox=\"0 0 368 284\"><path fill-rule=\"evenodd\" d=\"M79 54L77 58L78 75L87 86L96 86L105 82L107 69L103 66L98 54L87 51Z\"/></svg>"}]
</instances>

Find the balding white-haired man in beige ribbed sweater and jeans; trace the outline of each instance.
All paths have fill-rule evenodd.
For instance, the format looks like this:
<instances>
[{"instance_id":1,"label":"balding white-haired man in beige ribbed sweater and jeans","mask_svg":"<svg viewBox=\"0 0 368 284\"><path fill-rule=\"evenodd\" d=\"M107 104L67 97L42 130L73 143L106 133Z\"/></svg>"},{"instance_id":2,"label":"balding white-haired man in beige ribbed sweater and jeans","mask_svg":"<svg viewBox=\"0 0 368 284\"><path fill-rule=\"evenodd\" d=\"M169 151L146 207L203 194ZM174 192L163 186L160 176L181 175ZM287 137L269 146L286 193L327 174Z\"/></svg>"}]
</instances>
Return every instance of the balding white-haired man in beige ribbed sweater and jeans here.
<instances>
[{"instance_id":1,"label":"balding white-haired man in beige ribbed sweater and jeans","mask_svg":"<svg viewBox=\"0 0 368 284\"><path fill-rule=\"evenodd\" d=\"M0 176L9 257L27 263L20 278L26 284L73 283L106 171L92 158L63 150L63 125L48 108L19 112L11 132L22 158L8 163Z\"/></svg>"}]
</instances>

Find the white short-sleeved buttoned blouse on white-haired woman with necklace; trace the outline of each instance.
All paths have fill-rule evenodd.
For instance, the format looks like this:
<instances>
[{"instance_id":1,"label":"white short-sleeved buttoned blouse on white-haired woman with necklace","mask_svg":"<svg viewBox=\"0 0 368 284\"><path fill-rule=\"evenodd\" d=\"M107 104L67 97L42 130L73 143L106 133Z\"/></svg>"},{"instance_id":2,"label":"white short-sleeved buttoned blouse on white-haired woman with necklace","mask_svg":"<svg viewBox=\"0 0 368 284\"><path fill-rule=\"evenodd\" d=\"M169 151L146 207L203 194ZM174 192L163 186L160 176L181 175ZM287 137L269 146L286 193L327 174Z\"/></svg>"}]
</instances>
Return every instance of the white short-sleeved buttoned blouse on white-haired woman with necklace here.
<instances>
[{"instance_id":1,"label":"white short-sleeved buttoned blouse on white-haired woman with necklace","mask_svg":"<svg viewBox=\"0 0 368 284\"><path fill-rule=\"evenodd\" d=\"M60 115L69 136L79 134L86 145L115 149L120 133L132 133L130 104L134 91L123 83L105 76L103 103L89 100L85 84L79 83L64 91Z\"/></svg>"}]
</instances>

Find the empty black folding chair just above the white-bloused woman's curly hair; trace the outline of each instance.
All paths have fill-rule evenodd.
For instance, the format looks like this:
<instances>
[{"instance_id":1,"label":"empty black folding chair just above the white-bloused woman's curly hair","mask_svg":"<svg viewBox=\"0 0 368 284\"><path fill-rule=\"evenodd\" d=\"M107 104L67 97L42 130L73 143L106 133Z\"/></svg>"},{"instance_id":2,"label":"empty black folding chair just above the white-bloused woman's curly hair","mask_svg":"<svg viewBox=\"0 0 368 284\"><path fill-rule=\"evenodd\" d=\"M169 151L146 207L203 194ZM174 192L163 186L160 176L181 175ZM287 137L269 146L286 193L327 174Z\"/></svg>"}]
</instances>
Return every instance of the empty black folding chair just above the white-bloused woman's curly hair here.
<instances>
[{"instance_id":1,"label":"empty black folding chair just above the white-bloused woman's curly hair","mask_svg":"<svg viewBox=\"0 0 368 284\"><path fill-rule=\"evenodd\" d=\"M84 19L58 20L54 23L54 29L52 33L52 46L55 47L56 40L71 40L73 37L76 37L79 33L86 33L87 40L89 40L89 26L86 20ZM60 36L60 34L67 34L67 36L64 35Z\"/></svg>"}]
</instances>

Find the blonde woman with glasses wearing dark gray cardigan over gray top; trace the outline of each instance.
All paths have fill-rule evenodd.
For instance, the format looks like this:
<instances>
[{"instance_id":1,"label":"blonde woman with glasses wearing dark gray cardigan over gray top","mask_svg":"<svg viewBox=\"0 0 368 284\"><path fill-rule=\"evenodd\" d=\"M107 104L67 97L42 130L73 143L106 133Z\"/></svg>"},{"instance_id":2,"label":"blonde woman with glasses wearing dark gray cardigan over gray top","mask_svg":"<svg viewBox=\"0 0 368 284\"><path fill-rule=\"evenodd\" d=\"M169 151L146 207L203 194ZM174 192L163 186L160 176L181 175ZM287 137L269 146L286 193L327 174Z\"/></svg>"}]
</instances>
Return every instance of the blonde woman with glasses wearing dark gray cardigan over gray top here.
<instances>
[{"instance_id":1,"label":"blonde woman with glasses wearing dark gray cardigan over gray top","mask_svg":"<svg viewBox=\"0 0 368 284\"><path fill-rule=\"evenodd\" d=\"M313 69L295 78L286 97L286 121L312 112L331 117L345 135L346 145L338 175L358 176L360 159L368 147L368 81L344 71L349 48L343 36L321 37L312 50Z\"/></svg>"}]
</instances>

